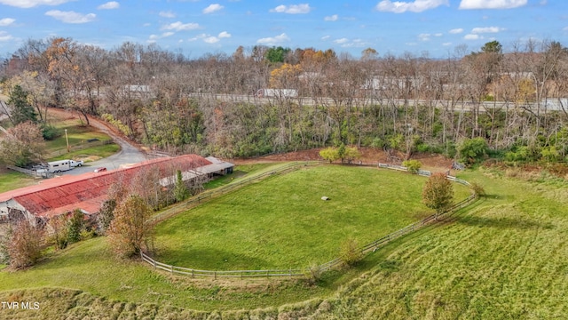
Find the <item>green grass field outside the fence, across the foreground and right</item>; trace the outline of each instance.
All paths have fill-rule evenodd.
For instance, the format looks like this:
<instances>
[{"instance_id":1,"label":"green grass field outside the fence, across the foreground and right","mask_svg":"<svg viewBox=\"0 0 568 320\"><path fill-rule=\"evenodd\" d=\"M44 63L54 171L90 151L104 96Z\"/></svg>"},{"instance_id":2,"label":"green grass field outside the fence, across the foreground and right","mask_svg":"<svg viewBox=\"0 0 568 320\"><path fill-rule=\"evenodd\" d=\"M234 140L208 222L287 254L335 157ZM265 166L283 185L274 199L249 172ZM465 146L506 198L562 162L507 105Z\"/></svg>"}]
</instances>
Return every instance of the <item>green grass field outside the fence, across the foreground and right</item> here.
<instances>
[{"instance_id":1,"label":"green grass field outside the fence, across the foreground and right","mask_svg":"<svg viewBox=\"0 0 568 320\"><path fill-rule=\"evenodd\" d=\"M44 306L0 309L0 318L568 317L568 183L483 171L460 177L481 183L488 196L387 244L354 269L327 274L316 286L171 277L114 260L105 239L95 238L28 271L0 272L0 300Z\"/></svg>"}]
</instances>

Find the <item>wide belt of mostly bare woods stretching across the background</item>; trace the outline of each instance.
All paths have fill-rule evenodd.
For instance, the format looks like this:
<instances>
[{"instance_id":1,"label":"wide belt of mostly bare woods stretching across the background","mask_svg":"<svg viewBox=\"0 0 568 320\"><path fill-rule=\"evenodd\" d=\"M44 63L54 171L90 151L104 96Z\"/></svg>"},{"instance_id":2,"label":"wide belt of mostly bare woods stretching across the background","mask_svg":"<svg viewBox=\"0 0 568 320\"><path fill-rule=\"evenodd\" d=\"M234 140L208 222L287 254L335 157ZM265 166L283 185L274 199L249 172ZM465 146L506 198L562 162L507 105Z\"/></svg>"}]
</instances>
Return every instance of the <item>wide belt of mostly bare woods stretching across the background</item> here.
<instances>
[{"instance_id":1,"label":"wide belt of mostly bare woods stretching across the background","mask_svg":"<svg viewBox=\"0 0 568 320\"><path fill-rule=\"evenodd\" d=\"M470 163L485 154L568 161L568 50L555 41L507 52L497 41L459 46L446 59L241 46L190 60L154 44L105 50L51 38L28 40L2 75L4 94L25 96L35 122L48 120L46 107L68 108L171 153L231 158L343 144ZM297 97L261 99L261 88ZM486 149L460 153L479 140Z\"/></svg>"}]
</instances>

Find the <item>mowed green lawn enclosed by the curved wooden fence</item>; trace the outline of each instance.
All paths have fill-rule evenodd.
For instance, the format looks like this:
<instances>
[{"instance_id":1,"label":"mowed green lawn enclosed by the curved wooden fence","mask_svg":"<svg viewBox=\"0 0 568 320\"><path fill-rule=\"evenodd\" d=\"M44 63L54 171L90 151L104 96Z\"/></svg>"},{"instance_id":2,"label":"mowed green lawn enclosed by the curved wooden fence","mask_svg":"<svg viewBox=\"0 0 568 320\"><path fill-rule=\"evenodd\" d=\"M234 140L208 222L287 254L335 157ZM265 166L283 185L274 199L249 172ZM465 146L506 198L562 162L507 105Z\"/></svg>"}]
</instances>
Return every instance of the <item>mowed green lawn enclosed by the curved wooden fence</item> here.
<instances>
[{"instance_id":1,"label":"mowed green lawn enclosed by the curved wooden fence","mask_svg":"<svg viewBox=\"0 0 568 320\"><path fill-rule=\"evenodd\" d=\"M350 238L367 244L432 214L421 203L425 180L340 165L276 176L159 224L155 258L207 270L322 264ZM469 196L455 190L458 201Z\"/></svg>"}]
</instances>

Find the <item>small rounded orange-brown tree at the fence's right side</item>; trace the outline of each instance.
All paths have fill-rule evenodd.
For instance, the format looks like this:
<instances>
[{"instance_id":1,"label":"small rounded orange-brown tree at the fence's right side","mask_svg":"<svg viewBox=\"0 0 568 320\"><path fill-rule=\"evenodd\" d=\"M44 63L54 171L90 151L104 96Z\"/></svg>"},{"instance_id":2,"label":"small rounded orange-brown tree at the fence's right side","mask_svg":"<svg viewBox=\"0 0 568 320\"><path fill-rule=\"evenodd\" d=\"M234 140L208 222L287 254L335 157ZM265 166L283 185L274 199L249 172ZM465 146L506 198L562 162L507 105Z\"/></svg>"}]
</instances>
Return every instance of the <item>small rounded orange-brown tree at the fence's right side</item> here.
<instances>
[{"instance_id":1,"label":"small rounded orange-brown tree at the fence's right side","mask_svg":"<svg viewBox=\"0 0 568 320\"><path fill-rule=\"evenodd\" d=\"M439 214L452 207L454 204L454 186L452 186L450 180L446 179L444 173L434 173L426 181L422 189L422 204L436 210L437 220Z\"/></svg>"}]
</instances>

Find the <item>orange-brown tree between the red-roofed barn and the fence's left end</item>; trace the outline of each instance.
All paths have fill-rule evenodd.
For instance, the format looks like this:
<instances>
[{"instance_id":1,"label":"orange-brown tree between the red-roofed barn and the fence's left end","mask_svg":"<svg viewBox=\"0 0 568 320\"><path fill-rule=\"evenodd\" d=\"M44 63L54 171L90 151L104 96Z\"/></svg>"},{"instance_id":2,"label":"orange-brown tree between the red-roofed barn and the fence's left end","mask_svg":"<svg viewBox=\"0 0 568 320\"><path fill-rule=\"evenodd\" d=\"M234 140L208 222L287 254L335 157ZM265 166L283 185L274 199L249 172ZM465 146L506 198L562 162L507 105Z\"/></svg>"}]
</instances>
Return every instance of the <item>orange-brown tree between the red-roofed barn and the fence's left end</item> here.
<instances>
[{"instance_id":1,"label":"orange-brown tree between the red-roofed barn and the fence's left end","mask_svg":"<svg viewBox=\"0 0 568 320\"><path fill-rule=\"evenodd\" d=\"M151 215L152 209L141 196L128 196L116 206L107 235L117 255L130 257L150 249L154 234Z\"/></svg>"}]
</instances>

